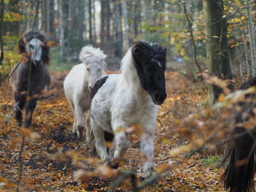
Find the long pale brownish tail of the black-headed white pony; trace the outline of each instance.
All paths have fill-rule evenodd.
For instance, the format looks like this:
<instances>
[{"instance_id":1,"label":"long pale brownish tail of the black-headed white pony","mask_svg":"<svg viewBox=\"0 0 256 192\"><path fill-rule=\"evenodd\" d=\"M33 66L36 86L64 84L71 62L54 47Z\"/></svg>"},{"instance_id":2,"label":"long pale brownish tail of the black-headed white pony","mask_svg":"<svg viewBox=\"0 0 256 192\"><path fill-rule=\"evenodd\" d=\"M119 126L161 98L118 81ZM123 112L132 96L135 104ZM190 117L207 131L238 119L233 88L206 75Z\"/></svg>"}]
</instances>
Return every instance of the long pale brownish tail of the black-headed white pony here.
<instances>
[{"instance_id":1,"label":"long pale brownish tail of the black-headed white pony","mask_svg":"<svg viewBox=\"0 0 256 192\"><path fill-rule=\"evenodd\" d=\"M90 148L90 153L92 157L97 157L98 153L96 150L96 140L94 136L94 132L92 130L92 123L91 123L91 114L90 111L88 111L88 114L86 116L86 145Z\"/></svg>"}]
</instances>

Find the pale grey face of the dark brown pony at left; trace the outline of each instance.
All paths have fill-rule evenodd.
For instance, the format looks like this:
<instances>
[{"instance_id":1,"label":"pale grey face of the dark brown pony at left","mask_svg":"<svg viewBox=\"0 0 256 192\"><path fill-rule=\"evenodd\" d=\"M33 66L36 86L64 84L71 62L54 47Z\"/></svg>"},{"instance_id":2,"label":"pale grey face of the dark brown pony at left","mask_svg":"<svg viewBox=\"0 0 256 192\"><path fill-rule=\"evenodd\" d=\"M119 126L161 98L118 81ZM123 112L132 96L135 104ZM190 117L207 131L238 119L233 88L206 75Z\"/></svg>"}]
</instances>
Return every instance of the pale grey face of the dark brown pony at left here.
<instances>
[{"instance_id":1,"label":"pale grey face of the dark brown pony at left","mask_svg":"<svg viewBox=\"0 0 256 192\"><path fill-rule=\"evenodd\" d=\"M30 42L28 42L28 55L31 55L31 60L35 65L40 64L41 62L41 56L42 56L42 41L40 41L38 38L31 39Z\"/></svg>"}]
</instances>

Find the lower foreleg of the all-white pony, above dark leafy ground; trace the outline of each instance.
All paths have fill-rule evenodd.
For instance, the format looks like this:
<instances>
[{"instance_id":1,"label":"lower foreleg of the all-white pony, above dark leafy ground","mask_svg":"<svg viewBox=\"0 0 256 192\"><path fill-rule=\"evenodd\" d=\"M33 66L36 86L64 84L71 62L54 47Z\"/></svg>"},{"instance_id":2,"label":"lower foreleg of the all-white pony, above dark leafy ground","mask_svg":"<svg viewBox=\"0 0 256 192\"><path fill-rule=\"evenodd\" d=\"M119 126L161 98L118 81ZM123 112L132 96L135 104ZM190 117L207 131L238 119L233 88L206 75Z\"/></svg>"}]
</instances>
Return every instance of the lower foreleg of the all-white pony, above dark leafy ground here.
<instances>
[{"instance_id":1,"label":"lower foreleg of the all-white pony, above dark leafy ground","mask_svg":"<svg viewBox=\"0 0 256 192\"><path fill-rule=\"evenodd\" d=\"M83 109L77 104L75 107L75 116L76 116L76 129L77 129L77 137L83 139L84 138L84 111Z\"/></svg>"}]
</instances>

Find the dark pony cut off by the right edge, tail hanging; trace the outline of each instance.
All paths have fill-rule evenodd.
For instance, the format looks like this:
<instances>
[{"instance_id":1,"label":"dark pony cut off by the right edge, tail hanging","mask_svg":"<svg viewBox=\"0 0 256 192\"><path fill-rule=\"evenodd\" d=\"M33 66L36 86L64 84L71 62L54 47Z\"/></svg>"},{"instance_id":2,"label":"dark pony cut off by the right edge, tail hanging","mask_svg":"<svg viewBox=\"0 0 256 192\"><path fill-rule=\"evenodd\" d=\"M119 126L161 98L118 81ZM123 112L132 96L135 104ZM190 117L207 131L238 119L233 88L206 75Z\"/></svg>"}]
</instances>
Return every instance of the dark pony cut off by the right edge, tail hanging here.
<instances>
[{"instance_id":1,"label":"dark pony cut off by the right edge, tail hanging","mask_svg":"<svg viewBox=\"0 0 256 192\"><path fill-rule=\"evenodd\" d=\"M243 83L240 90L256 86L256 77ZM241 111L235 113L234 139L228 144L228 151L221 165L229 161L221 179L230 192L255 192L254 174L256 172L256 94L247 94L244 102L237 104Z\"/></svg>"}]
</instances>

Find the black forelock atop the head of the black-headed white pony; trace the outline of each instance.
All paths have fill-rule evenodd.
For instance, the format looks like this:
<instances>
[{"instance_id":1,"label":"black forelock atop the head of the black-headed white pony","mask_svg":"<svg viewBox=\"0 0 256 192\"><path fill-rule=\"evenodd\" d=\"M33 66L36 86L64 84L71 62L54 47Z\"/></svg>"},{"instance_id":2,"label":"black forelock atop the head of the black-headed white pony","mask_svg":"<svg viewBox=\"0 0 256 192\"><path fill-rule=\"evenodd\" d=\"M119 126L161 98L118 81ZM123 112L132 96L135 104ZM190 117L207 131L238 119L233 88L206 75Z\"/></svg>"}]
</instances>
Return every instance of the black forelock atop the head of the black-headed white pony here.
<instances>
[{"instance_id":1,"label":"black forelock atop the head of the black-headed white pony","mask_svg":"<svg viewBox=\"0 0 256 192\"><path fill-rule=\"evenodd\" d=\"M152 59L166 64L166 48L157 43L138 41L131 44L132 57L135 61L148 62Z\"/></svg>"}]
</instances>

